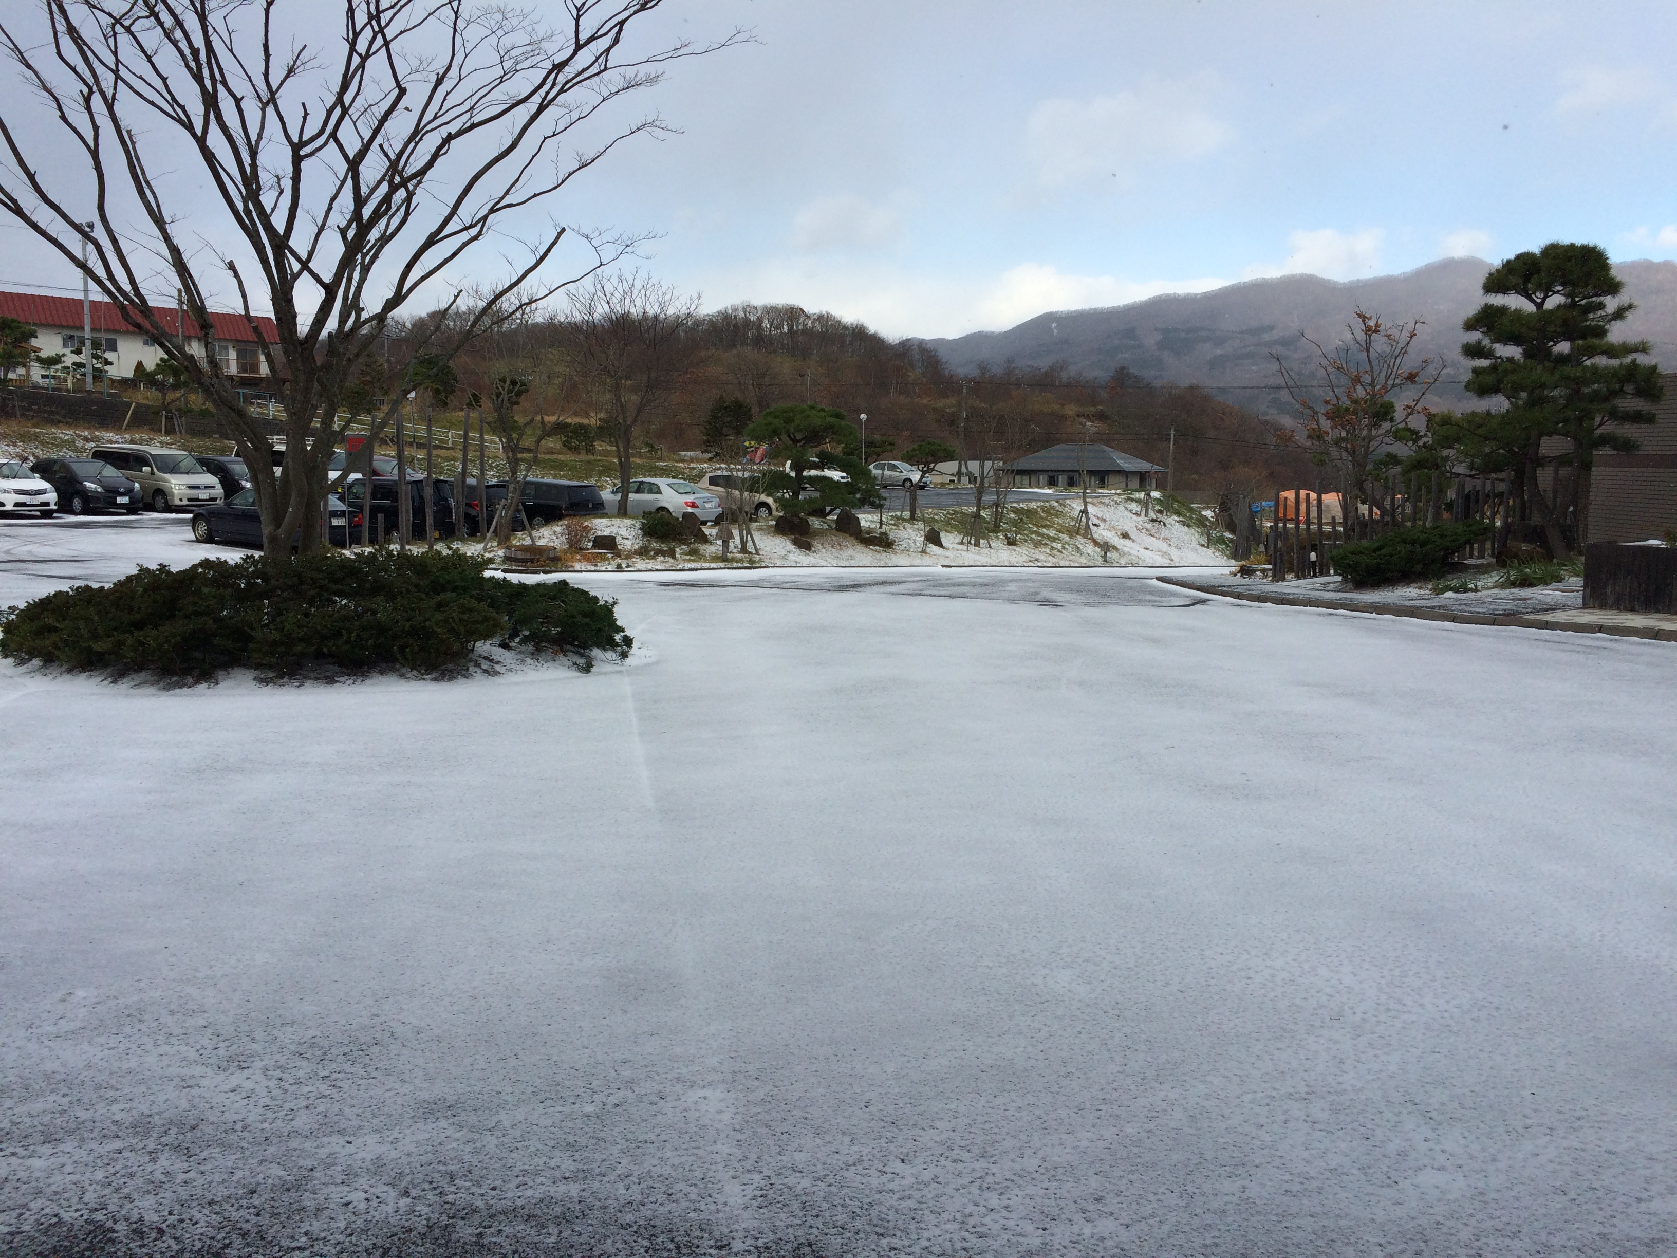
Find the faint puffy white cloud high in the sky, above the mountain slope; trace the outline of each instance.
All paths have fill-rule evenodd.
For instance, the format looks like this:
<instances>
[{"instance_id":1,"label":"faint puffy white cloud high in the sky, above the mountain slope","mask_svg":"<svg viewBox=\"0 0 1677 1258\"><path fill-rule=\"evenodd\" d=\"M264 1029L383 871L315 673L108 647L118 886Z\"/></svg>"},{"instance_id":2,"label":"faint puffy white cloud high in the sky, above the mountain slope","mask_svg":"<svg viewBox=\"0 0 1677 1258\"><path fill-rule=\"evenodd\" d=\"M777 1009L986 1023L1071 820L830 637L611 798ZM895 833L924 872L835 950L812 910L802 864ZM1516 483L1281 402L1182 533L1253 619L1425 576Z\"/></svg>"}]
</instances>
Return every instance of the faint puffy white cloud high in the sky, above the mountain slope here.
<instances>
[{"instance_id":1,"label":"faint puffy white cloud high in the sky, above the mountain slope","mask_svg":"<svg viewBox=\"0 0 1677 1258\"><path fill-rule=\"evenodd\" d=\"M1234 131L1206 109L1216 79L1147 77L1134 91L1090 101L1043 101L1025 126L1041 185L1127 183L1145 164L1216 153Z\"/></svg>"}]
</instances>

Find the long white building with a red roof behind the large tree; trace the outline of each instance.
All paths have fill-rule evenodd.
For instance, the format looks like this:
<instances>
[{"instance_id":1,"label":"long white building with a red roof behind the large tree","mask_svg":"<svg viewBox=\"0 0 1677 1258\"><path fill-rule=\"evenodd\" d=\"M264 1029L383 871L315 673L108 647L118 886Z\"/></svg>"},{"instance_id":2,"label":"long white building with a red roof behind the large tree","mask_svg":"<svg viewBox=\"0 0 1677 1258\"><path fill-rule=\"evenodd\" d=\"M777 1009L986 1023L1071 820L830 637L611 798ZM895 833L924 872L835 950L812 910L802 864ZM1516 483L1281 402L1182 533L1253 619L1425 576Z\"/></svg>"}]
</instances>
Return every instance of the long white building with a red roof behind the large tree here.
<instances>
[{"instance_id":1,"label":"long white building with a red roof behind the large tree","mask_svg":"<svg viewBox=\"0 0 1677 1258\"><path fill-rule=\"evenodd\" d=\"M94 347L102 349L111 361L112 376L132 376L136 364L144 364L149 371L163 357L156 342L148 332L131 327L117 307L111 302L91 302ZM179 329L179 312L174 307L153 307L158 322L169 334ZM10 315L37 329L35 346L42 354L64 354L65 359L80 361L82 354L82 299L80 297L45 297L32 292L0 290L0 315ZM268 377L268 364L263 359L257 332L270 346L278 342L278 329L272 319L257 317L252 320L241 314L211 312L215 329L215 354L221 362L221 371L228 376L260 381ZM196 357L203 357L203 339L196 335L195 324L188 319L186 349ZM34 374L34 369L32 369Z\"/></svg>"}]
</instances>

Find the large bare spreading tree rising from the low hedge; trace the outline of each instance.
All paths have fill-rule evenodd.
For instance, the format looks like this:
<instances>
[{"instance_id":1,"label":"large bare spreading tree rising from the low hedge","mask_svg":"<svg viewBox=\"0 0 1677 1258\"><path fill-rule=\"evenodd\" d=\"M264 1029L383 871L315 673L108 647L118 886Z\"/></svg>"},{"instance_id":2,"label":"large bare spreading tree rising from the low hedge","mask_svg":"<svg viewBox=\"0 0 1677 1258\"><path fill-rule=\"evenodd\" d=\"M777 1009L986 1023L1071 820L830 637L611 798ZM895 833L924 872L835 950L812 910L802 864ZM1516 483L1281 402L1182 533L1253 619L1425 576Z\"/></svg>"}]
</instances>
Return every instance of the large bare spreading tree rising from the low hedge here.
<instances>
[{"instance_id":1,"label":"large bare spreading tree rising from the low hedge","mask_svg":"<svg viewBox=\"0 0 1677 1258\"><path fill-rule=\"evenodd\" d=\"M446 359L517 314L513 294L540 302L574 282L540 278L567 235L552 221L503 258L505 280L470 310L451 275L491 233L508 238L510 216L626 138L662 129L657 117L610 127L607 106L678 57L743 39L627 54L626 32L657 3L567 0L550 29L505 5L354 0L342 30L317 39L315 10L277 0L42 0L47 44L25 47L13 23L0 23L0 44L69 144L30 144L15 114L0 116L0 210L205 394L252 470L263 548L283 554L300 532L312 550L339 403L397 314L426 297L463 312L404 342ZM60 186L65 153L94 178L91 211ZM203 178L178 178L183 161ZM196 230L206 193L230 250ZM584 273L636 243L577 235ZM285 404L280 475L215 351L218 277L238 292ZM190 327L154 309L148 289L179 289ZM253 322L262 307L273 340ZM392 366L384 423L409 387L406 366Z\"/></svg>"}]
</instances>

